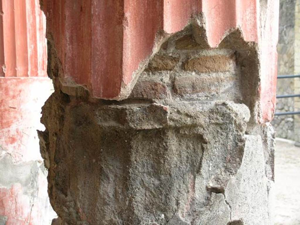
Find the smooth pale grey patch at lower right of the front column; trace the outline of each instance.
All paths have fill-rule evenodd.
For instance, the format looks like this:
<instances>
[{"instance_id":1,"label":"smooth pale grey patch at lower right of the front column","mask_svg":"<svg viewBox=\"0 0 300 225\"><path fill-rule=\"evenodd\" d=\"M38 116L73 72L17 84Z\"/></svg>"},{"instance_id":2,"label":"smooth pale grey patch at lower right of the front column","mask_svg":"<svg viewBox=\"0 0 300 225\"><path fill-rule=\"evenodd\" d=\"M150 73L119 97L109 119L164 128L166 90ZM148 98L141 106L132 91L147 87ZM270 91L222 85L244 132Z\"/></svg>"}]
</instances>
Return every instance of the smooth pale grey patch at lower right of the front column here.
<instances>
[{"instance_id":1,"label":"smooth pale grey patch at lower right of the front column","mask_svg":"<svg viewBox=\"0 0 300 225\"><path fill-rule=\"evenodd\" d=\"M245 225L268 224L268 189L262 139L259 135L246 135L244 157L238 172L230 179L225 196L231 207L231 219L242 220Z\"/></svg>"}]
</instances>

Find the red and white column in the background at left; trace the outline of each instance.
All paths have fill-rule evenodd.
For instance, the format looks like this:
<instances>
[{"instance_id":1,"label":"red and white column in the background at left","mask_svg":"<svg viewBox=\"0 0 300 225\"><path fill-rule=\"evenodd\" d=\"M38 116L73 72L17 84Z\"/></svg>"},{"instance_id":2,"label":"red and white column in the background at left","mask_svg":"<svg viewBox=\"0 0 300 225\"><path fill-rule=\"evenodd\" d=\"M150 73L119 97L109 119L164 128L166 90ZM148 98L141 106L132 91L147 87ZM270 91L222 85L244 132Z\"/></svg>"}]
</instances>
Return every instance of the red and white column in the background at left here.
<instances>
[{"instance_id":1,"label":"red and white column in the background at left","mask_svg":"<svg viewBox=\"0 0 300 225\"><path fill-rule=\"evenodd\" d=\"M0 224L49 224L54 212L36 131L53 91L46 20L38 0L1 0L0 11Z\"/></svg>"}]
</instances>

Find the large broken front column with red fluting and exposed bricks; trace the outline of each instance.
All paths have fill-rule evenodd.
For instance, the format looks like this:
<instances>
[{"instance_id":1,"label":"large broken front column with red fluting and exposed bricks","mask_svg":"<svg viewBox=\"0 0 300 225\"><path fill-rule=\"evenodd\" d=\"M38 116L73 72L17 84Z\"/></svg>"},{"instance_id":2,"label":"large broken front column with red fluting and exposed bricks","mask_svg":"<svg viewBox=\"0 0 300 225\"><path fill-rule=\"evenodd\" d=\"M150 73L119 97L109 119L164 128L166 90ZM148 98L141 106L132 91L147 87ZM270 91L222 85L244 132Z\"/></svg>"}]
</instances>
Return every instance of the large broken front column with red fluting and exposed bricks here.
<instances>
[{"instance_id":1,"label":"large broken front column with red fluting and exposed bricks","mask_svg":"<svg viewBox=\"0 0 300 225\"><path fill-rule=\"evenodd\" d=\"M271 224L278 1L43 1L52 224Z\"/></svg>"}]
</instances>

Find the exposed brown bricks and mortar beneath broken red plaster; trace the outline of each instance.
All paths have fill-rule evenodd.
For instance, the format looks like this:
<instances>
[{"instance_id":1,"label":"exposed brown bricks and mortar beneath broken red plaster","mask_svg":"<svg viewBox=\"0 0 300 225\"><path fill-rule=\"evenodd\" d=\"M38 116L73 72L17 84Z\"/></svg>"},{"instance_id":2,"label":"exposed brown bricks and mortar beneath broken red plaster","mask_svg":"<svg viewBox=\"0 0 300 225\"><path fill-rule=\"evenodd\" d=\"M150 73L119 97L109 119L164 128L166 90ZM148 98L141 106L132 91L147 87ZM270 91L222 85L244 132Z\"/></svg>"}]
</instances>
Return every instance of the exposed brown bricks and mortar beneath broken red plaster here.
<instances>
[{"instance_id":1,"label":"exposed brown bricks and mortar beneath broken red plaster","mask_svg":"<svg viewBox=\"0 0 300 225\"><path fill-rule=\"evenodd\" d=\"M241 62L248 60L247 55L253 49L247 50L248 46L238 32L232 35L240 43L238 49L241 50L238 51L230 47L231 39L224 40L220 48L209 49L204 39L198 44L192 33L191 28L187 28L162 44L158 53L150 59L129 98L156 99L164 104L177 98L232 100L245 102L253 108L244 92L254 91L255 86L245 79L243 85L247 88L241 91ZM243 60L237 61L236 54ZM243 66L246 68L245 74L252 73L254 79L258 70L249 65L252 64Z\"/></svg>"}]
</instances>

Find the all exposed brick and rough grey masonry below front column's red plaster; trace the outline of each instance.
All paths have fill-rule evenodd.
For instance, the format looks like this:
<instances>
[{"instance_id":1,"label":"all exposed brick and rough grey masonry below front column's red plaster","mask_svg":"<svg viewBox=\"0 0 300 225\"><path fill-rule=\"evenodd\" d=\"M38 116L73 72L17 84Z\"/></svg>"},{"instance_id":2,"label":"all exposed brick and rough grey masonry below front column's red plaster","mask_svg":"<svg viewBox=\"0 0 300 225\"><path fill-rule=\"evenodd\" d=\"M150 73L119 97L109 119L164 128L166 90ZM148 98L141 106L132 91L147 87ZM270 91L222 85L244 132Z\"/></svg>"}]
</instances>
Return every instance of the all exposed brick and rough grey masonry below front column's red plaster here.
<instances>
[{"instance_id":1,"label":"all exposed brick and rough grey masonry below front column's red plaster","mask_svg":"<svg viewBox=\"0 0 300 225\"><path fill-rule=\"evenodd\" d=\"M53 225L269 224L274 131L255 119L259 47L235 29L211 48L199 24L159 41L121 101L62 85L48 38L55 92L39 138Z\"/></svg>"}]
</instances>

